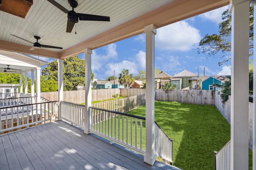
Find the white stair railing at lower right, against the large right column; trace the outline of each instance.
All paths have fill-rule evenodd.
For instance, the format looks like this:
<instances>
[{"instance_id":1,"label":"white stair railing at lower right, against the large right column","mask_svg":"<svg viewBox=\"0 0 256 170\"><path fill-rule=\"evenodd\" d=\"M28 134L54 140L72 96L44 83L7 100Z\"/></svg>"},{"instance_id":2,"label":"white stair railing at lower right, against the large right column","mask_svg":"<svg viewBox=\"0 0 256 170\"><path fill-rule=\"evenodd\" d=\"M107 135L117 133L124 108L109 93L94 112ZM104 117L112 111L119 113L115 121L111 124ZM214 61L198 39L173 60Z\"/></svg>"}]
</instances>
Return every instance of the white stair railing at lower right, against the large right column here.
<instances>
[{"instance_id":1,"label":"white stair railing at lower right, against the large right column","mask_svg":"<svg viewBox=\"0 0 256 170\"><path fill-rule=\"evenodd\" d=\"M215 170L230 170L230 141L215 153Z\"/></svg>"}]
</instances>

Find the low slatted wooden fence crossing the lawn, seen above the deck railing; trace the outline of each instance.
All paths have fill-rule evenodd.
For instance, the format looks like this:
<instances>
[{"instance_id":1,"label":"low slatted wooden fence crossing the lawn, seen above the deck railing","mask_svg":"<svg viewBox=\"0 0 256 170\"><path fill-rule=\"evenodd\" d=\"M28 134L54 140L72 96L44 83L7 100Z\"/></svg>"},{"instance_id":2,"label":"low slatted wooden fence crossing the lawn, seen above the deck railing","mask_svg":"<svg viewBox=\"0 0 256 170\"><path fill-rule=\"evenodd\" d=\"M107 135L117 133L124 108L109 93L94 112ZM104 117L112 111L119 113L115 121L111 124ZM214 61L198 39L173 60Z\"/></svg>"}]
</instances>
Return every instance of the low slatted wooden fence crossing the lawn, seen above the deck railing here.
<instances>
[{"instance_id":1,"label":"low slatted wooden fence crossing the lawn, seen above the deck railing","mask_svg":"<svg viewBox=\"0 0 256 170\"><path fill-rule=\"evenodd\" d=\"M146 104L146 95L140 94L137 96L129 96L126 98L109 100L105 102L99 102L92 104L92 107L97 107L101 109L118 111L118 112L126 112L137 107L143 106Z\"/></svg>"}]
</instances>

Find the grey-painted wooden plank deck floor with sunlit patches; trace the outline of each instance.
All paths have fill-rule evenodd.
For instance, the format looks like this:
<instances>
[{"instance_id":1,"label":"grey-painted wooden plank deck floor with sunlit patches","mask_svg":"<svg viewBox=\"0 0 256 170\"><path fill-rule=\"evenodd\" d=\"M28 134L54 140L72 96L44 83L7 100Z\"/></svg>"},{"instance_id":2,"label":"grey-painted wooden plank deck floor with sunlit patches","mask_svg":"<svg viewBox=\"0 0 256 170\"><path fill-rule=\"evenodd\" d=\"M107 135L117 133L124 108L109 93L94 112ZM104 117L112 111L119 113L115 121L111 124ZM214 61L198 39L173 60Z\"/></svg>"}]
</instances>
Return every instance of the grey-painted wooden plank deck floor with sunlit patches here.
<instances>
[{"instance_id":1,"label":"grey-painted wooden plank deck floor with sunlit patches","mask_svg":"<svg viewBox=\"0 0 256 170\"><path fill-rule=\"evenodd\" d=\"M0 170L179 170L143 156L97 135L86 135L65 121L0 135Z\"/></svg>"}]
</instances>

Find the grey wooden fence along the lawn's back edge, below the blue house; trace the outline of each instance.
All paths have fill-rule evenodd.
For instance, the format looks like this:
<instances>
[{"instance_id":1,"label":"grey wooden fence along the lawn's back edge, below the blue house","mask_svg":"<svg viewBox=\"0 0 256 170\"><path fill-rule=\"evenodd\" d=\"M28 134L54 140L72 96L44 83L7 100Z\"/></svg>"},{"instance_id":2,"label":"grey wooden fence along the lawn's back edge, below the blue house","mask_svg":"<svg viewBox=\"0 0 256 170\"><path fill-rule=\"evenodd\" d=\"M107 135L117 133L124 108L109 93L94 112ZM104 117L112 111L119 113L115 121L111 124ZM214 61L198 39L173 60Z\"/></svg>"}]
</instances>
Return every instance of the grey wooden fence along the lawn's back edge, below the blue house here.
<instances>
[{"instance_id":1,"label":"grey wooden fence along the lawn's back edge, below the blue house","mask_svg":"<svg viewBox=\"0 0 256 170\"><path fill-rule=\"evenodd\" d=\"M155 89L155 100L158 101L214 105L214 96L212 90L174 89L165 92L162 89Z\"/></svg>"}]
</instances>

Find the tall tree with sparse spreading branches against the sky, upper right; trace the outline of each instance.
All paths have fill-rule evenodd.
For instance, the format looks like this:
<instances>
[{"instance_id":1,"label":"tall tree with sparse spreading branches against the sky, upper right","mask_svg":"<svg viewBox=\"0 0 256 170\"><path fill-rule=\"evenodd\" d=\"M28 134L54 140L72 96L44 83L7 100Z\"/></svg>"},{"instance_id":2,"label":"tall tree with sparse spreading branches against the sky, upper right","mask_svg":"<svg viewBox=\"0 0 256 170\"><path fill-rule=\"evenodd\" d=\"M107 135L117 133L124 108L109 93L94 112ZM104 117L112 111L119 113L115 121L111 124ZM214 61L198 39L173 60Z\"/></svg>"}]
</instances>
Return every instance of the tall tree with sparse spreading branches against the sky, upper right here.
<instances>
[{"instance_id":1,"label":"tall tree with sparse spreading branches against the sky, upper right","mask_svg":"<svg viewBox=\"0 0 256 170\"><path fill-rule=\"evenodd\" d=\"M250 56L253 55L253 7L250 8L250 39L249 49ZM222 52L223 60L218 64L222 65L229 61L231 58L225 58L225 53L231 51L231 14L228 10L222 13L222 22L219 23L219 33L208 35L199 42L198 54L206 55L206 58L214 57L217 53Z\"/></svg>"}]
</instances>

